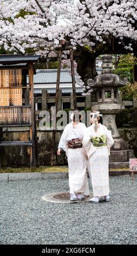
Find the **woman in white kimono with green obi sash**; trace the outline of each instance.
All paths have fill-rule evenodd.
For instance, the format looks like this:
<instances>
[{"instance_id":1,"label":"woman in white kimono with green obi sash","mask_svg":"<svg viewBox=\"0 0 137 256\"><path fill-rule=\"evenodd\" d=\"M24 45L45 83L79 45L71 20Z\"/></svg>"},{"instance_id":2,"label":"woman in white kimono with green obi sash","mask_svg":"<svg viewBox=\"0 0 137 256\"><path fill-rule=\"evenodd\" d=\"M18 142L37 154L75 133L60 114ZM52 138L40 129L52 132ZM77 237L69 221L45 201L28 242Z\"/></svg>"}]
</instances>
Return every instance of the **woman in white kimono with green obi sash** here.
<instances>
[{"instance_id":1,"label":"woman in white kimono with green obi sash","mask_svg":"<svg viewBox=\"0 0 137 256\"><path fill-rule=\"evenodd\" d=\"M114 140L107 127L99 123L100 112L91 113L92 125L83 137L83 147L89 160L89 176L93 186L93 198L89 201L99 203L99 197L109 202L108 156Z\"/></svg>"}]
</instances>

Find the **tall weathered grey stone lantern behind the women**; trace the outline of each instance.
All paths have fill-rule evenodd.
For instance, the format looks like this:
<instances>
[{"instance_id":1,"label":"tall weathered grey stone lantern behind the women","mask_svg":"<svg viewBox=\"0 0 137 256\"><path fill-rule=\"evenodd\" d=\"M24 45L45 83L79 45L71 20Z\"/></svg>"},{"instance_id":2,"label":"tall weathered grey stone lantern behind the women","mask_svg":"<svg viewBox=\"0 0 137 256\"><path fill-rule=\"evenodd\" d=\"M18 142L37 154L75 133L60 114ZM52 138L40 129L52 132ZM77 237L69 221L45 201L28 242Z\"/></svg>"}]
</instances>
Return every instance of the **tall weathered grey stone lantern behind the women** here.
<instances>
[{"instance_id":1,"label":"tall weathered grey stone lantern behind the women","mask_svg":"<svg viewBox=\"0 0 137 256\"><path fill-rule=\"evenodd\" d=\"M116 167L115 162L119 162L119 167L129 166L129 157L133 157L133 150L128 149L128 142L120 138L116 127L115 117L125 106L119 102L118 87L127 84L127 79L122 80L119 75L113 74L113 58L110 55L102 57L102 72L94 80L88 80L90 88L96 88L97 102L92 107L92 111L100 111L103 114L103 125L112 131L114 145L110 154L109 167ZM120 164L122 162L122 164ZM114 163L114 164L113 164Z\"/></svg>"}]
</instances>

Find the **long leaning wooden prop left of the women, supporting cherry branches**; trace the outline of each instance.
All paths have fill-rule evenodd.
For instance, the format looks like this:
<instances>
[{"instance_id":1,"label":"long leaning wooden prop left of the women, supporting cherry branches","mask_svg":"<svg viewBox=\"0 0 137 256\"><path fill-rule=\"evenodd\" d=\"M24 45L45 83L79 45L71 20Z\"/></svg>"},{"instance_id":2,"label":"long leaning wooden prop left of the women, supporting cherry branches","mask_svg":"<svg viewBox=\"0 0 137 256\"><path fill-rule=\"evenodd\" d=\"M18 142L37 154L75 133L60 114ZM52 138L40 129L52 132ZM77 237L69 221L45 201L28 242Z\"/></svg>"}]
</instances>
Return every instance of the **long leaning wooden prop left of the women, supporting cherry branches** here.
<instances>
[{"instance_id":1,"label":"long leaning wooden prop left of the women, supporting cherry branches","mask_svg":"<svg viewBox=\"0 0 137 256\"><path fill-rule=\"evenodd\" d=\"M62 56L62 50L60 49L58 53L58 68L57 68L57 82L56 82L56 96L55 96L56 113L58 111L58 95L59 95L60 75L61 75L61 56ZM55 160L54 160L55 141L56 141L56 125L55 127L53 127L53 137L52 137L52 143L51 143L51 166L54 166L55 164Z\"/></svg>"}]
</instances>

